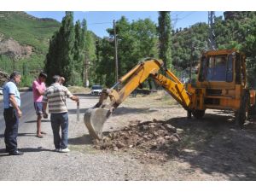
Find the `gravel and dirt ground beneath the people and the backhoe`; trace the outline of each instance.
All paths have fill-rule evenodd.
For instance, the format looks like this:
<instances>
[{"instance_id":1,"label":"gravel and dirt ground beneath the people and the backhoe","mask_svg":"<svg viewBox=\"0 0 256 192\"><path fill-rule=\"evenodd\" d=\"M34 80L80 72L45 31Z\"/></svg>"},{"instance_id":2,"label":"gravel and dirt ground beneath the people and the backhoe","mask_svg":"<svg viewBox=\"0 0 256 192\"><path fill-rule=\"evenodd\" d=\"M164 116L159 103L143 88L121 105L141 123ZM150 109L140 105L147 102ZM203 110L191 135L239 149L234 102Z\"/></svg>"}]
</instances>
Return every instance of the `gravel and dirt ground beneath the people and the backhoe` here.
<instances>
[{"instance_id":1,"label":"gravel and dirt ground beneath the people and the backhoe","mask_svg":"<svg viewBox=\"0 0 256 192\"><path fill-rule=\"evenodd\" d=\"M79 96L81 113L98 100L97 96ZM131 96L104 125L107 139L102 145L91 141L82 117L76 120L75 103L67 100L67 107L71 152L54 152L49 119L42 125L47 135L38 139L34 137L35 115L24 116L18 137L24 155L5 154L3 130L0 134L0 180L256 178L255 116L240 129L229 112L207 110L204 119L189 120L169 95Z\"/></svg>"}]
</instances>

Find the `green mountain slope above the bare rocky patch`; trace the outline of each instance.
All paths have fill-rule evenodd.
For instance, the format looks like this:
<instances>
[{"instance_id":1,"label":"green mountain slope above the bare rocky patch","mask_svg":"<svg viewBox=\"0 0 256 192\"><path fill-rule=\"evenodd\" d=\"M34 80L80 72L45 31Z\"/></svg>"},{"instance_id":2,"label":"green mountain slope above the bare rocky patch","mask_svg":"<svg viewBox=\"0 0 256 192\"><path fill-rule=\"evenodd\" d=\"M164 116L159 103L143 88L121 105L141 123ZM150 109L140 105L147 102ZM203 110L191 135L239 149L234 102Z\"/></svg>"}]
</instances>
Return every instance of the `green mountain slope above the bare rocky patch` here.
<instances>
[{"instance_id":1,"label":"green mountain slope above the bare rocky patch","mask_svg":"<svg viewBox=\"0 0 256 192\"><path fill-rule=\"evenodd\" d=\"M19 44L31 45L36 53L46 54L49 38L61 24L52 19L38 19L24 12L0 12L0 33Z\"/></svg>"}]
</instances>

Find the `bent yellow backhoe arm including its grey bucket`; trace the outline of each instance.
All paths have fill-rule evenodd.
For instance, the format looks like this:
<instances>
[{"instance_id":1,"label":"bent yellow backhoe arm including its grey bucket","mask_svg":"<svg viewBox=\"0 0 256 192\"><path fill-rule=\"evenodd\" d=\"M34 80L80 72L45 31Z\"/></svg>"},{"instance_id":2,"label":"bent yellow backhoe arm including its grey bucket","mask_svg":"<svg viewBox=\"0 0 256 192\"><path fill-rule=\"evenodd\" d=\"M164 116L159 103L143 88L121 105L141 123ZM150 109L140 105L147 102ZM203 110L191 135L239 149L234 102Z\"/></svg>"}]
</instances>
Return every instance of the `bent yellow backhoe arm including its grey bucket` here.
<instances>
[{"instance_id":1,"label":"bent yellow backhoe arm including its grey bucket","mask_svg":"<svg viewBox=\"0 0 256 192\"><path fill-rule=\"evenodd\" d=\"M164 69L166 76L159 73L163 68L161 60L141 61L136 67L126 73L117 84L111 89L102 90L99 102L94 108L89 108L84 113L84 124L90 132L90 136L96 139L102 138L102 127L105 121L110 117L115 108L125 101L125 98L131 94L133 90L142 84L148 77L152 77L157 84L160 84L174 99L179 102L183 108L189 109L190 96L185 90L184 84L169 70ZM122 84L121 90L114 90L115 87Z\"/></svg>"}]
</instances>

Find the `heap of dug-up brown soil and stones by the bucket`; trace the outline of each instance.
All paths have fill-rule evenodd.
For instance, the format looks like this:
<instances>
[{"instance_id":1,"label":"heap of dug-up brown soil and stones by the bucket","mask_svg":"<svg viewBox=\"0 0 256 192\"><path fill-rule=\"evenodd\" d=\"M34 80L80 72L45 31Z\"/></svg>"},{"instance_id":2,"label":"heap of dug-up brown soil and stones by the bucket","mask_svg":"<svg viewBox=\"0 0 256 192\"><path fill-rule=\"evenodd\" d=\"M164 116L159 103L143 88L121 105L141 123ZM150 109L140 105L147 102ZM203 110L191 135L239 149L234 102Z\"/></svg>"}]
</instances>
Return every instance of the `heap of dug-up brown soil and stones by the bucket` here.
<instances>
[{"instance_id":1,"label":"heap of dug-up brown soil and stones by the bucket","mask_svg":"<svg viewBox=\"0 0 256 192\"><path fill-rule=\"evenodd\" d=\"M133 121L120 131L108 132L101 141L94 141L95 148L102 150L139 149L141 153L133 153L135 159L165 162L173 143L181 139L176 128L165 121Z\"/></svg>"}]
</instances>

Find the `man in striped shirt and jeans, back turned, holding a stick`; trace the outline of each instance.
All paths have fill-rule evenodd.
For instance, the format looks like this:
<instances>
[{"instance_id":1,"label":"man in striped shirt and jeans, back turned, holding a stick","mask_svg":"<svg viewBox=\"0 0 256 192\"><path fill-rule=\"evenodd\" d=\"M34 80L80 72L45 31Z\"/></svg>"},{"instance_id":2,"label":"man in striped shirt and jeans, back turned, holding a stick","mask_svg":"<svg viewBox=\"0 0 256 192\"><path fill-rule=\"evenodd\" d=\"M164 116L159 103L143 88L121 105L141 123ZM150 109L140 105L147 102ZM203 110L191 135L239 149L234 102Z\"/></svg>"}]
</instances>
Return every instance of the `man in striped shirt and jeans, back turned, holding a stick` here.
<instances>
[{"instance_id":1,"label":"man in striped shirt and jeans, back turned, holding a stick","mask_svg":"<svg viewBox=\"0 0 256 192\"><path fill-rule=\"evenodd\" d=\"M68 135L68 113L66 98L79 102L78 96L73 96L67 87L61 85L61 77L53 77L54 84L51 84L45 91L43 97L43 113L47 117L46 108L49 103L50 123L54 135L55 151L67 153L67 135ZM61 127L61 136L60 136Z\"/></svg>"}]
</instances>

